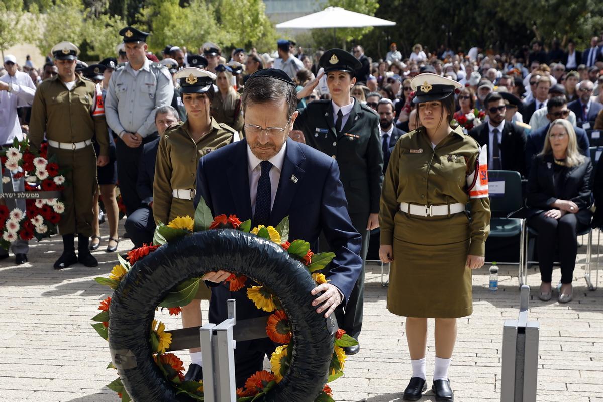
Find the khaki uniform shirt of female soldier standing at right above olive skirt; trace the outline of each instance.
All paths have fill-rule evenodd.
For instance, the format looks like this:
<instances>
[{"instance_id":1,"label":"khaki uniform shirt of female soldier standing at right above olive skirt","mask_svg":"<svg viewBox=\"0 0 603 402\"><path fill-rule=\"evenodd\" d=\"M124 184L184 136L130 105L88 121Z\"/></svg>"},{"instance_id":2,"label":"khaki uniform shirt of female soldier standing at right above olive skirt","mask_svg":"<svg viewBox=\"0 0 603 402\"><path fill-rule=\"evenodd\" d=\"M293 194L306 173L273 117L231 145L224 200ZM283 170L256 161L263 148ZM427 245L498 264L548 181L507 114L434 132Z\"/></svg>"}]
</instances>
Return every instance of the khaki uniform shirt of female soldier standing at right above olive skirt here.
<instances>
[{"instance_id":1,"label":"khaki uniform shirt of female soldier standing at right above olive skirt","mask_svg":"<svg viewBox=\"0 0 603 402\"><path fill-rule=\"evenodd\" d=\"M432 148L424 128L404 134L391 154L380 201L381 244L392 245L394 217L400 203L443 205L470 203L469 254L484 256L490 232L490 198L470 198L467 177L476 169L479 145L460 127ZM450 226L450 225L449 225ZM434 239L454 239L455 227L442 225ZM454 240L458 241L458 240ZM450 241L452 242L452 241Z\"/></svg>"}]
</instances>

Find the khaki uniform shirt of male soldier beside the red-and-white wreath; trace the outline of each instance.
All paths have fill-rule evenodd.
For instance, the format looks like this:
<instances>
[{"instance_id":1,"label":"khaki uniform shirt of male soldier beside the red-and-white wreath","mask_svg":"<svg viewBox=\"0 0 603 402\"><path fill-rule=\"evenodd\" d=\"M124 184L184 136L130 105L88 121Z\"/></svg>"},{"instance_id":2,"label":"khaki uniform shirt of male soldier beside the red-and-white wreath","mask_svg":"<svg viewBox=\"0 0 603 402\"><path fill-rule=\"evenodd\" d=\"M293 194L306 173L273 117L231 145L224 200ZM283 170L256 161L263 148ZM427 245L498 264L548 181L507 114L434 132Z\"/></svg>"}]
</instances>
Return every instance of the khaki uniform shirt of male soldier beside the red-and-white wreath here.
<instances>
[{"instance_id":1,"label":"khaki uniform shirt of male soldier beside the red-and-white wreath","mask_svg":"<svg viewBox=\"0 0 603 402\"><path fill-rule=\"evenodd\" d=\"M46 138L58 142L92 140L100 146L100 154L109 156L109 134L102 96L98 104L96 84L76 74L75 85L69 90L58 75L37 87L31 108L30 143L37 151Z\"/></svg>"}]
</instances>

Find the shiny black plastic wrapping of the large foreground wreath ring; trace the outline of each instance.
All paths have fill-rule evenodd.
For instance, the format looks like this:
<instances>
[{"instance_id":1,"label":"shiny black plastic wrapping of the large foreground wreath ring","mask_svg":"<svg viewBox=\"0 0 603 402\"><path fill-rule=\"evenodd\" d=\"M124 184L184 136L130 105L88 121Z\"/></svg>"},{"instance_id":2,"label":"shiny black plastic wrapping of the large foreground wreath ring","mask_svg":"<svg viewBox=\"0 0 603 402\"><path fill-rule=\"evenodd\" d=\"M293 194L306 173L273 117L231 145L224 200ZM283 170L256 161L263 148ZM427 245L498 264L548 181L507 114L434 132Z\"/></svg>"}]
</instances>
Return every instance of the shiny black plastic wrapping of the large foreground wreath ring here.
<instances>
[{"instance_id":1,"label":"shiny black plastic wrapping of the large foreground wreath ring","mask_svg":"<svg viewBox=\"0 0 603 402\"><path fill-rule=\"evenodd\" d=\"M109 348L128 395L134 402L192 401L186 394L176 395L154 363L151 323L174 286L218 269L270 287L291 321L291 366L265 401L314 401L333 355L333 336L311 305L316 283L280 245L233 229L201 231L163 245L136 262L119 283L109 310Z\"/></svg>"}]
</instances>

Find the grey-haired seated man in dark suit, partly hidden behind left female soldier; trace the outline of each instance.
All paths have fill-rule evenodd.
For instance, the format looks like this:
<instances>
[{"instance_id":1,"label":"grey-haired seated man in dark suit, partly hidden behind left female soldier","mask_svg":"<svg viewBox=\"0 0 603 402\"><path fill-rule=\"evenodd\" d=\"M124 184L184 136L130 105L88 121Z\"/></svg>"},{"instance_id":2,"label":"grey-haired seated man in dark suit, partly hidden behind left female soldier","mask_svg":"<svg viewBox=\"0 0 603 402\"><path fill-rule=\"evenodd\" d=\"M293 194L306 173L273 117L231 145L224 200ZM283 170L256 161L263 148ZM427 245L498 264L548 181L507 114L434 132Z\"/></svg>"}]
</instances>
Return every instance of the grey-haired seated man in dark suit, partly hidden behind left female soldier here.
<instances>
[{"instance_id":1,"label":"grey-haired seated man in dark suit, partly hidden behind left female soldier","mask_svg":"<svg viewBox=\"0 0 603 402\"><path fill-rule=\"evenodd\" d=\"M153 243L155 232L153 180L155 178L155 160L157 159L157 149L159 149L159 139L165 133L166 128L177 123L178 120L178 111L174 107L164 105L157 109L155 125L159 137L144 144L144 148L142 148L138 165L138 177L136 178L136 192L138 198L142 201L140 201L139 209L128 215L124 224L125 230L130 235L130 240L134 243L134 248L142 247L143 243Z\"/></svg>"}]
</instances>

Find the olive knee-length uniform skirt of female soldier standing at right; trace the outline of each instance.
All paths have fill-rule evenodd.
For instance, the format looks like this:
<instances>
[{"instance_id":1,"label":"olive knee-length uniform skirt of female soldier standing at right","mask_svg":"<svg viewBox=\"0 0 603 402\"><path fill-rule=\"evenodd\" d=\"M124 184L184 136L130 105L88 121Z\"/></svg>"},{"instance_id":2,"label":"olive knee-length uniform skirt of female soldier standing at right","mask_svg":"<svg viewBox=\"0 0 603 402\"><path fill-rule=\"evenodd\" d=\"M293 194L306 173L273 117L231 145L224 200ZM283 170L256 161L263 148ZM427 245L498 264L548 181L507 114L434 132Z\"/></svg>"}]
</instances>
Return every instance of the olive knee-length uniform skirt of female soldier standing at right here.
<instances>
[{"instance_id":1,"label":"olive knee-length uniform skirt of female soldier standing at right","mask_svg":"<svg viewBox=\"0 0 603 402\"><path fill-rule=\"evenodd\" d=\"M387 308L406 317L458 318L473 312L469 218L415 216L394 219L394 262Z\"/></svg>"}]
</instances>

